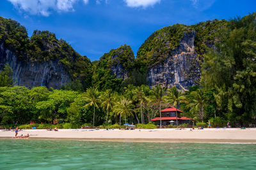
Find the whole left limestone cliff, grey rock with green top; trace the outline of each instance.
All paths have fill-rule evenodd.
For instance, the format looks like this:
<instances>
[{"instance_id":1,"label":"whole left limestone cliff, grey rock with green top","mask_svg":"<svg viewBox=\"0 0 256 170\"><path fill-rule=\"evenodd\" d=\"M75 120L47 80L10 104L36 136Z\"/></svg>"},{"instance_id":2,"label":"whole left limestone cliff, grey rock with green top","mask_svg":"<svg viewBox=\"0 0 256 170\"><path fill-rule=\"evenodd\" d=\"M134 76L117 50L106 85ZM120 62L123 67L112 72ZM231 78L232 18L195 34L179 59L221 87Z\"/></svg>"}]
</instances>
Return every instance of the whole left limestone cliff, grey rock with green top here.
<instances>
[{"instance_id":1,"label":"whole left limestone cliff, grey rock with green top","mask_svg":"<svg viewBox=\"0 0 256 170\"><path fill-rule=\"evenodd\" d=\"M92 63L63 39L49 31L34 31L15 20L0 17L0 71L6 64L13 69L15 85L46 86L59 89L70 81L83 89L92 85Z\"/></svg>"}]
</instances>

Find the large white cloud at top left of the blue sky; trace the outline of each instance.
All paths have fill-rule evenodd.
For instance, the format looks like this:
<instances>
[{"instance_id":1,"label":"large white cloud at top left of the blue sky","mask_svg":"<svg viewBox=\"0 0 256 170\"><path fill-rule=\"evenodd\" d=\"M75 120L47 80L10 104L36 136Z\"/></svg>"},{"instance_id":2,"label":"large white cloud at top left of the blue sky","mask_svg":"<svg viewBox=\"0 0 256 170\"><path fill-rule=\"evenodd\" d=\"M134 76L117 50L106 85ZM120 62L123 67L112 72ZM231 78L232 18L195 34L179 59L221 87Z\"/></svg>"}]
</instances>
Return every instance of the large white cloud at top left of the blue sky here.
<instances>
[{"instance_id":1,"label":"large white cloud at top left of the blue sky","mask_svg":"<svg viewBox=\"0 0 256 170\"><path fill-rule=\"evenodd\" d=\"M51 11L74 11L73 5L80 0L8 0L15 8L25 11L31 15L43 15L48 17ZM84 4L88 4L89 0L83 0Z\"/></svg>"}]
</instances>

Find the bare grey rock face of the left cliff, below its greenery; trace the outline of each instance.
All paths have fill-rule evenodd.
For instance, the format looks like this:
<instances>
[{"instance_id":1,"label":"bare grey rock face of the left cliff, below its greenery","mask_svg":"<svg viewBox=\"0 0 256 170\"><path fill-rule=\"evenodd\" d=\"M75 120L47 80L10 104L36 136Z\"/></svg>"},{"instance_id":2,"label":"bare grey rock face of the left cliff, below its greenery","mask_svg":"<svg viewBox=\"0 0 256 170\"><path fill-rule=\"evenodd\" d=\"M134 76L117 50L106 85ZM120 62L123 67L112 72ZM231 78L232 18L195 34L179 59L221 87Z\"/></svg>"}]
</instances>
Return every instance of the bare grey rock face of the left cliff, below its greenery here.
<instances>
[{"instance_id":1,"label":"bare grey rock face of the left cliff, below its greenery","mask_svg":"<svg viewBox=\"0 0 256 170\"><path fill-rule=\"evenodd\" d=\"M13 69L15 85L36 87L46 86L59 89L70 81L70 76L58 60L31 62L18 60L17 55L0 45L0 70L9 64Z\"/></svg>"}]
</instances>

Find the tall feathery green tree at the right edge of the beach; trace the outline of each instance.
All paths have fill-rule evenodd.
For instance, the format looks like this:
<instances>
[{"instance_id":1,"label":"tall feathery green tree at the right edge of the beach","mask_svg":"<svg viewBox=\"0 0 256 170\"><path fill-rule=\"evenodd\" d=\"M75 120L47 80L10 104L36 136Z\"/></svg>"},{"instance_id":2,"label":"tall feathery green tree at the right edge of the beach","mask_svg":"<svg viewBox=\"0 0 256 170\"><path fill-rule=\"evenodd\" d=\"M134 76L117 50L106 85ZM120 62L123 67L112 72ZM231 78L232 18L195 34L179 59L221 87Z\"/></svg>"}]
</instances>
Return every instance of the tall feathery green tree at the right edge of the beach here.
<instances>
[{"instance_id":1,"label":"tall feathery green tree at the right edge of the beach","mask_svg":"<svg viewBox=\"0 0 256 170\"><path fill-rule=\"evenodd\" d=\"M216 110L240 125L254 122L256 115L255 17L230 20L220 32L221 43L205 54L202 64L202 86L216 89Z\"/></svg>"}]
</instances>

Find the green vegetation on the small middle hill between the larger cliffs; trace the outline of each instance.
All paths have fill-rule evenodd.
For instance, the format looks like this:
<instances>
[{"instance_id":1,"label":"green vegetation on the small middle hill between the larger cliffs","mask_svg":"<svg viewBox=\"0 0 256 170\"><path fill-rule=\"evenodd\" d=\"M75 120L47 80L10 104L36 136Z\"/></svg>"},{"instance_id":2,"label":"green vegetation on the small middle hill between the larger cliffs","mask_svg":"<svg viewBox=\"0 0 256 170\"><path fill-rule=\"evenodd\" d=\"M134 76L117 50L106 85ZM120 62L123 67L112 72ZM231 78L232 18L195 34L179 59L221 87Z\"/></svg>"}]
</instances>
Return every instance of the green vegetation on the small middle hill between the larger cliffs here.
<instances>
[{"instance_id":1,"label":"green vegetation on the small middle hill between the larger cliffs","mask_svg":"<svg viewBox=\"0 0 256 170\"><path fill-rule=\"evenodd\" d=\"M119 91L125 76L132 70L134 53L130 46L122 45L100 57L99 62L93 62L94 72L92 84L98 89L113 89ZM119 72L119 76L116 72Z\"/></svg>"}]
</instances>

